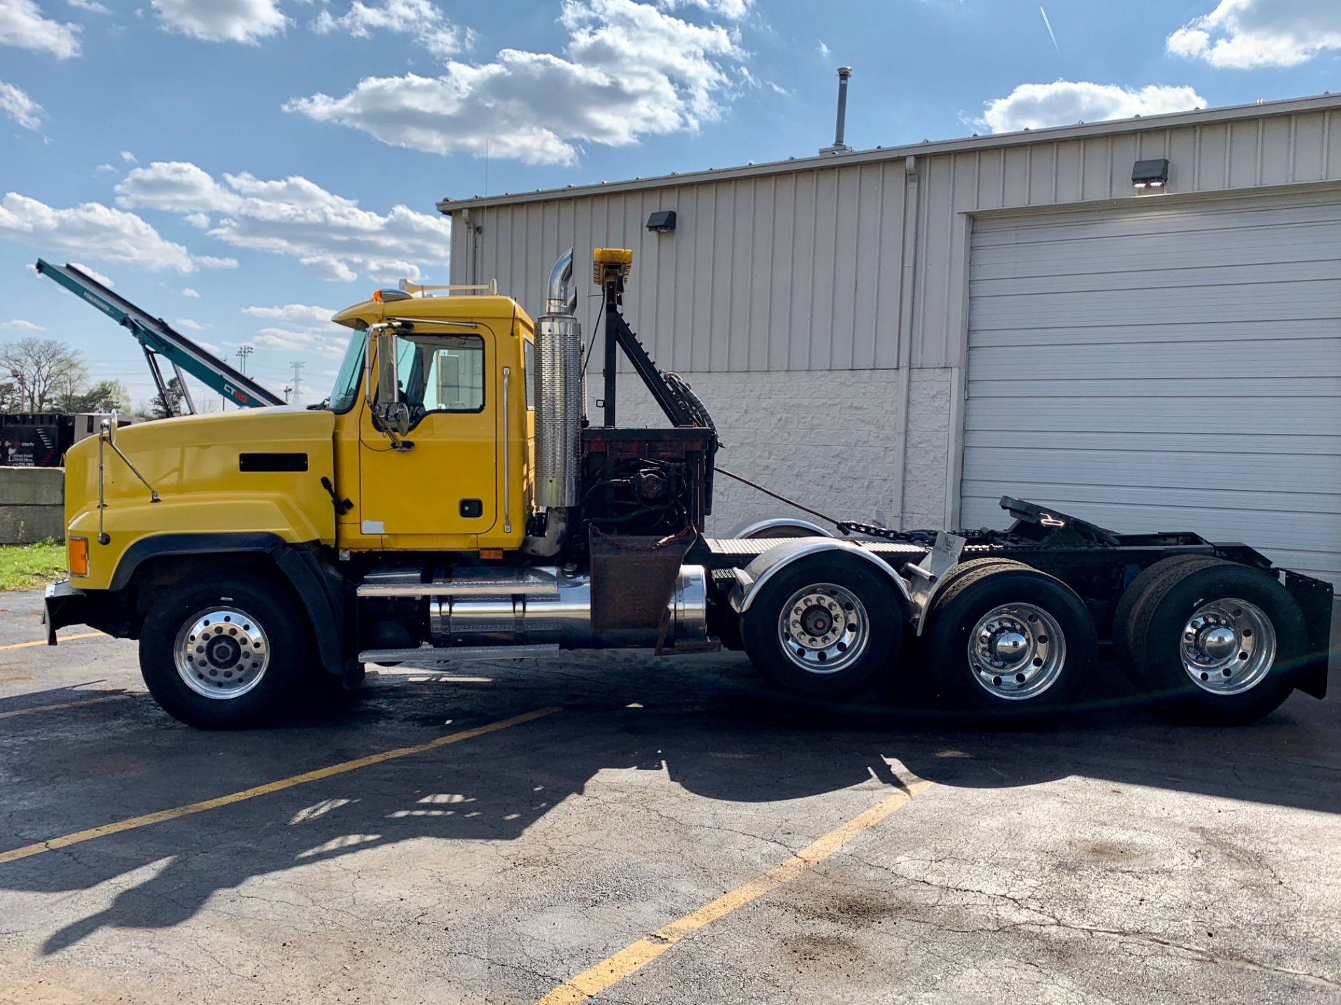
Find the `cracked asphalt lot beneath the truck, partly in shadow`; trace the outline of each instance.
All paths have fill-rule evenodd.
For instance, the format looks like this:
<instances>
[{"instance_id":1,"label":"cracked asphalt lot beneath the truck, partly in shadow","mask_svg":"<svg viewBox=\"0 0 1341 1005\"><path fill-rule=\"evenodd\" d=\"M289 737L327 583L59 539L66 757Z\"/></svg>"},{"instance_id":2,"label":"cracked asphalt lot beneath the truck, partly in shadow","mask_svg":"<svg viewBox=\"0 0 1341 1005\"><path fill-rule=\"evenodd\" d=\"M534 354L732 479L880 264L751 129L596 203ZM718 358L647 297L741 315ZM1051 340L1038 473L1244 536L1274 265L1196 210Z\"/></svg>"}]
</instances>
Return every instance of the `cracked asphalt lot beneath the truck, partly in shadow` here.
<instances>
[{"instance_id":1,"label":"cracked asphalt lot beneath the truck, partly in shadow","mask_svg":"<svg viewBox=\"0 0 1341 1005\"><path fill-rule=\"evenodd\" d=\"M39 610L0 595L0 646ZM0 852L562 709L0 863L0 1001L534 1002L921 779L594 1001L1341 1002L1338 674L1240 729L1105 674L1063 724L983 732L783 699L736 654L566 654L200 733L134 643L0 650Z\"/></svg>"}]
</instances>

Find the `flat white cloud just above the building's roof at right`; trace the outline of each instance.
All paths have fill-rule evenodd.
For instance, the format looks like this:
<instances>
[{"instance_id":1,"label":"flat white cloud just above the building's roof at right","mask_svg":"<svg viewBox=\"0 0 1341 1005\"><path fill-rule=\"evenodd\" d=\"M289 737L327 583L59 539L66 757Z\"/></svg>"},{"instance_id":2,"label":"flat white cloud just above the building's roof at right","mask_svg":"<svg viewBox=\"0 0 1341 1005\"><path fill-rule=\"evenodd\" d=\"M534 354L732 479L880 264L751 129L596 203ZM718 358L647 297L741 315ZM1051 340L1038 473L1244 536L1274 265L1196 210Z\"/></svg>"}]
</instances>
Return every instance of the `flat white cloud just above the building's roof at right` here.
<instances>
[{"instance_id":1,"label":"flat white cloud just above the building's roof at right","mask_svg":"<svg viewBox=\"0 0 1341 1005\"><path fill-rule=\"evenodd\" d=\"M1015 133L1202 107L1206 99L1191 87L1152 84L1137 91L1116 84L1057 80L1021 84L1007 96L987 102L975 125L987 126L992 133Z\"/></svg>"}]
</instances>

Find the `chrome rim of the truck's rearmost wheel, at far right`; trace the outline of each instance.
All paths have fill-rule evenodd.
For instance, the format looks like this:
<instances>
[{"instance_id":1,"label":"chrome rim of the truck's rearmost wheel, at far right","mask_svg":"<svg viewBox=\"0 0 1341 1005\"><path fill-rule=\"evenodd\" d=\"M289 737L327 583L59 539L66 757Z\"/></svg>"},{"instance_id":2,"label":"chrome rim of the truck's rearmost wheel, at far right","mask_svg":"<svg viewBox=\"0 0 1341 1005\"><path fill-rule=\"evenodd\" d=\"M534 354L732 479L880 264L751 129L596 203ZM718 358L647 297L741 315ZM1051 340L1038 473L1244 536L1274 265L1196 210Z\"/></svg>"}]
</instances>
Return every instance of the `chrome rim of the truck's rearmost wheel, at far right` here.
<instances>
[{"instance_id":1,"label":"chrome rim of the truck's rearmost wheel, at far right","mask_svg":"<svg viewBox=\"0 0 1341 1005\"><path fill-rule=\"evenodd\" d=\"M1211 694L1242 694L1275 663L1275 627L1261 607L1227 596L1198 607L1183 626L1183 669Z\"/></svg>"}]
</instances>

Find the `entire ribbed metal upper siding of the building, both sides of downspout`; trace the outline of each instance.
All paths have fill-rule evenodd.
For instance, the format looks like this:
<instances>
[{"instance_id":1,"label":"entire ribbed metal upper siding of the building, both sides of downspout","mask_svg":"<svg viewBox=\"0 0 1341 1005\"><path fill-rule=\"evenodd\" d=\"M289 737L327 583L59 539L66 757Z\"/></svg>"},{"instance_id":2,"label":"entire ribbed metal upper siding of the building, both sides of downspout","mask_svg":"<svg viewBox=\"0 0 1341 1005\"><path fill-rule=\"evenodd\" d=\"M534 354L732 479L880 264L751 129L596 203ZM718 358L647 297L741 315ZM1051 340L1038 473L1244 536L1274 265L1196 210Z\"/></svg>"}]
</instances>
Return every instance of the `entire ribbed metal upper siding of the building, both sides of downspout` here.
<instances>
[{"instance_id":1,"label":"entire ribbed metal upper siding of the building, both sides of downspout","mask_svg":"<svg viewBox=\"0 0 1341 1005\"><path fill-rule=\"evenodd\" d=\"M1151 157L1169 158L1173 193L1341 181L1341 113L1022 139L917 158L912 364L963 366L967 214L1126 201L1133 162ZM893 367L902 200L901 157L860 165L833 158L823 168L802 162L742 180L658 180L632 192L476 209L468 224L456 216L452 281L498 277L536 312L547 269L563 248L577 245L582 263L593 247L632 247L630 322L662 364ZM676 210L675 234L645 229L657 209ZM475 225L483 226L477 236ZM473 272L472 241L479 244Z\"/></svg>"}]
</instances>

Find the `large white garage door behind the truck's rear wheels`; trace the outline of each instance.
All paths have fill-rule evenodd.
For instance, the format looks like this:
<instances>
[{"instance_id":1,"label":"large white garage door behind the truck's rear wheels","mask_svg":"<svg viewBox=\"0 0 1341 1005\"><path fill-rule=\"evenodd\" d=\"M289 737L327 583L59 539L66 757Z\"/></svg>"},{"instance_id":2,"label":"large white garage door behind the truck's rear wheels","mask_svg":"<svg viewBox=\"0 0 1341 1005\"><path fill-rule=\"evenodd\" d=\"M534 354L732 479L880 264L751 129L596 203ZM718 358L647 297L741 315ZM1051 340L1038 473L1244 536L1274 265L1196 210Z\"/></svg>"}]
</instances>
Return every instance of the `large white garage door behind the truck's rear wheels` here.
<instances>
[{"instance_id":1,"label":"large white garage door behind the truck's rear wheels","mask_svg":"<svg viewBox=\"0 0 1341 1005\"><path fill-rule=\"evenodd\" d=\"M1341 193L975 222L964 527L1003 494L1341 584Z\"/></svg>"}]
</instances>

